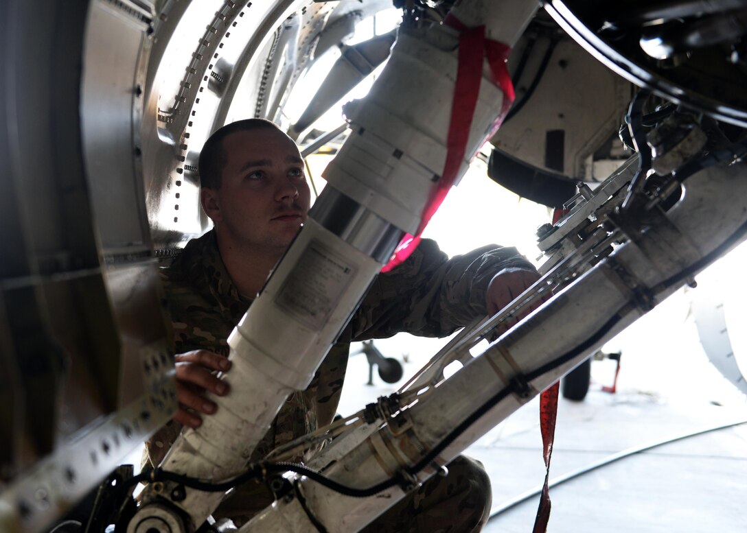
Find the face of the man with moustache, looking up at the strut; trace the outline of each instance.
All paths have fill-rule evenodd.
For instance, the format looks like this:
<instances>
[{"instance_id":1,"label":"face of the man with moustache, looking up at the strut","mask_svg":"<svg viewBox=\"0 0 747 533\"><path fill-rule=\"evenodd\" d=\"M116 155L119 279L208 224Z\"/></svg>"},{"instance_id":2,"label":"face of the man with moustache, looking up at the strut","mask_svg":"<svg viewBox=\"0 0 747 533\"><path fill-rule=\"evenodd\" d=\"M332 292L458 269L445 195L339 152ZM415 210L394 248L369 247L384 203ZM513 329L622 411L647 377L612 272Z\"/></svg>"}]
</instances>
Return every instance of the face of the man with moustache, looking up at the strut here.
<instances>
[{"instance_id":1,"label":"face of the man with moustache, looking up at the strut","mask_svg":"<svg viewBox=\"0 0 747 533\"><path fill-rule=\"evenodd\" d=\"M303 160L295 143L279 131L238 131L223 140L226 164L220 189L205 190L217 231L238 246L282 253L310 206Z\"/></svg>"}]
</instances>

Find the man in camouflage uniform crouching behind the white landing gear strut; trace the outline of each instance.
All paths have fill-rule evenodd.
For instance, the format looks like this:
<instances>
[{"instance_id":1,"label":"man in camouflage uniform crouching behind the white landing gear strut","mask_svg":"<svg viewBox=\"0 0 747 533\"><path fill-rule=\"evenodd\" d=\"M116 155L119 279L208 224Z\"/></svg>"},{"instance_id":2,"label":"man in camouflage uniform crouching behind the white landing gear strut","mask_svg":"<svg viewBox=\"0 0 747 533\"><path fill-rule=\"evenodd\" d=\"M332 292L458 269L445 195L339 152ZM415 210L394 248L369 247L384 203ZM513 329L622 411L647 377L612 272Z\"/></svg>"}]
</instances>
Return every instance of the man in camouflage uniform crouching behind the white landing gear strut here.
<instances>
[{"instance_id":1,"label":"man in camouflage uniform crouching behind the white landing gear strut","mask_svg":"<svg viewBox=\"0 0 747 533\"><path fill-rule=\"evenodd\" d=\"M214 229L187 243L162 270L179 354L182 408L146 443L153 464L161 461L183 425L197 427L201 414L215 411L204 390L219 396L229 392L214 375L229 370L226 340L309 210L303 160L272 122L250 119L221 128L205 143L199 172L202 207ZM251 461L332 422L351 342L400 331L442 337L498 311L536 278L515 249L488 246L448 259L435 242L423 240L404 264L376 278L309 388L282 406ZM486 473L464 457L448 468L448 476L435 476L364 531L480 531L492 501ZM264 485L250 481L224 500L214 517L229 517L240 525L272 501Z\"/></svg>"}]
</instances>

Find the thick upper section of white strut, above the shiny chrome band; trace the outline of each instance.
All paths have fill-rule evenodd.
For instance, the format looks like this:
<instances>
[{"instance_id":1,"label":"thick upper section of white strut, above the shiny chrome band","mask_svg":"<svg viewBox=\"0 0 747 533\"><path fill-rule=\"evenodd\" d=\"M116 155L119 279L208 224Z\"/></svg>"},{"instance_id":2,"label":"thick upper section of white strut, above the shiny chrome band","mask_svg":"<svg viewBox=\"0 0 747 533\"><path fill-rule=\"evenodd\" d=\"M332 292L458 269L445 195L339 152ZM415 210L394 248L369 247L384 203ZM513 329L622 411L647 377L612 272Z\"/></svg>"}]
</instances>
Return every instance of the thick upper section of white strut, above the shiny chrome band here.
<instances>
[{"instance_id":1,"label":"thick upper section of white strut, above the shiny chrome band","mask_svg":"<svg viewBox=\"0 0 747 533\"><path fill-rule=\"evenodd\" d=\"M531 13L536 9L526 0L509 2L516 3L533 6ZM345 106L350 137L323 172L342 193L411 234L444 171L458 43L458 31L447 25L400 28L387 66L371 91L364 100ZM502 105L503 91L493 84L483 61L459 176L486 142Z\"/></svg>"}]
</instances>

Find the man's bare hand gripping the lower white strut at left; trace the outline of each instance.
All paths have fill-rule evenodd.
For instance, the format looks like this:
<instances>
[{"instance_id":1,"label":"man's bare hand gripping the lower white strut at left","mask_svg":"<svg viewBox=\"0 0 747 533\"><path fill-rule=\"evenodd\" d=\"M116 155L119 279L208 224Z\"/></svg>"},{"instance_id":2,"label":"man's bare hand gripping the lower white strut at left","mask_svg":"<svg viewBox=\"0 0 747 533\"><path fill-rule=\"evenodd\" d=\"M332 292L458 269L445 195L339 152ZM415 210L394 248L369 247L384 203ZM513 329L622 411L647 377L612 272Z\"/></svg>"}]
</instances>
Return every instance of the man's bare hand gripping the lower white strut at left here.
<instances>
[{"instance_id":1,"label":"man's bare hand gripping the lower white strut at left","mask_svg":"<svg viewBox=\"0 0 747 533\"><path fill-rule=\"evenodd\" d=\"M179 411L173 420L190 428L199 428L202 425L200 414L213 414L218 407L205 398L205 391L217 396L225 396L229 391L228 384L218 379L214 371L229 370L231 361L207 350L179 354L174 361Z\"/></svg>"}]
</instances>

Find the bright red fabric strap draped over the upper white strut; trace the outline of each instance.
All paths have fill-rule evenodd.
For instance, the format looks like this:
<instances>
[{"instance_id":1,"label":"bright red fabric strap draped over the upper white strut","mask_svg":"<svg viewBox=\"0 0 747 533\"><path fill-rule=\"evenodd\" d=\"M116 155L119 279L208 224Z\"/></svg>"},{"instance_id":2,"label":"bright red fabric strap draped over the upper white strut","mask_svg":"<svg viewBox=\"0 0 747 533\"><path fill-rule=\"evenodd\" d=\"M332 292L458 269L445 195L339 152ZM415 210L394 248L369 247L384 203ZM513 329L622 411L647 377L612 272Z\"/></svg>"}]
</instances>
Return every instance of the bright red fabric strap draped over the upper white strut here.
<instances>
[{"instance_id":1,"label":"bright red fabric strap draped over the upper white strut","mask_svg":"<svg viewBox=\"0 0 747 533\"><path fill-rule=\"evenodd\" d=\"M453 26L459 34L459 63L456 71L456 86L451 103L451 116L447 134L447 152L444 171L438 180L438 187L431 193L427 202L423 218L415 235L406 234L400 241L394 255L382 272L388 272L405 261L421 241L421 234L438 211L446 198L451 186L459 174L459 166L465 159L467 143L472 125L472 117L477 107L477 97L480 94L480 82L483 78L483 58L487 57L492 72L492 82L503 91L503 105L498 118L492 125L490 137L500 127L503 118L514 100L514 89L511 77L506 68L506 58L510 52L509 46L497 41L486 40L485 26L467 28L455 16L447 16L444 24ZM470 154L471 159L474 154Z\"/></svg>"}]
</instances>

